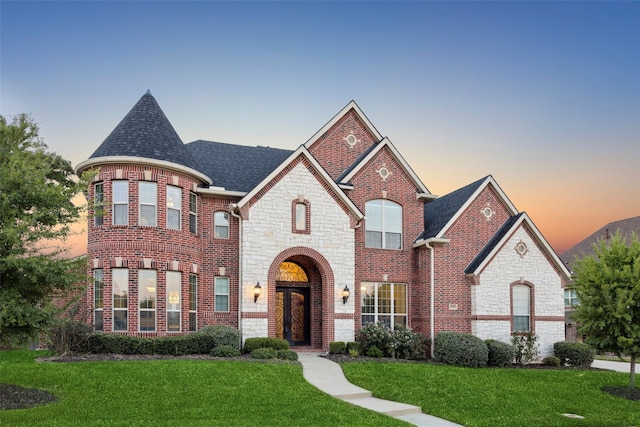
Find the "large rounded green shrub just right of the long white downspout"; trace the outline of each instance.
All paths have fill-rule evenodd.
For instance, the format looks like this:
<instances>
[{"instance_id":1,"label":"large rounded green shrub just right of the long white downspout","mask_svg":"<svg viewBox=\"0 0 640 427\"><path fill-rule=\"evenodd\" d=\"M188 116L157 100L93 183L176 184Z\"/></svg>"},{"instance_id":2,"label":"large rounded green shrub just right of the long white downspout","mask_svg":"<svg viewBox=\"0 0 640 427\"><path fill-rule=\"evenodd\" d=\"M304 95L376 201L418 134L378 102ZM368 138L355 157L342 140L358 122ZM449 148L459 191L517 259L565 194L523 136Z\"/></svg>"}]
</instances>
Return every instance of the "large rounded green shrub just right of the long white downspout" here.
<instances>
[{"instance_id":1,"label":"large rounded green shrub just right of the long white downspout","mask_svg":"<svg viewBox=\"0 0 640 427\"><path fill-rule=\"evenodd\" d=\"M487 345L478 337L459 332L440 332L435 338L434 360L447 365L477 368L489 357Z\"/></svg>"}]
</instances>

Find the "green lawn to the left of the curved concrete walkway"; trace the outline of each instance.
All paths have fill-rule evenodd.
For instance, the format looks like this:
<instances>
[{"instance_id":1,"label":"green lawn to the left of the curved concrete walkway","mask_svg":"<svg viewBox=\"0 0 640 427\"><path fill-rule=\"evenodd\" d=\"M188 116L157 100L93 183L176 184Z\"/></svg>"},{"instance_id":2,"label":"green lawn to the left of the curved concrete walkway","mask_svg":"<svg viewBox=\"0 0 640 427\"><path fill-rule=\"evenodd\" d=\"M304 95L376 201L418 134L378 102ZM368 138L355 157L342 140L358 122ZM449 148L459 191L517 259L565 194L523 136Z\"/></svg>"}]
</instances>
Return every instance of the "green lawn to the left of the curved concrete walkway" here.
<instances>
[{"instance_id":1,"label":"green lawn to the left of the curved concrete walkway","mask_svg":"<svg viewBox=\"0 0 640 427\"><path fill-rule=\"evenodd\" d=\"M0 411L4 426L406 426L317 390L299 364L211 360L40 363L0 352L0 382L59 400Z\"/></svg>"}]
</instances>

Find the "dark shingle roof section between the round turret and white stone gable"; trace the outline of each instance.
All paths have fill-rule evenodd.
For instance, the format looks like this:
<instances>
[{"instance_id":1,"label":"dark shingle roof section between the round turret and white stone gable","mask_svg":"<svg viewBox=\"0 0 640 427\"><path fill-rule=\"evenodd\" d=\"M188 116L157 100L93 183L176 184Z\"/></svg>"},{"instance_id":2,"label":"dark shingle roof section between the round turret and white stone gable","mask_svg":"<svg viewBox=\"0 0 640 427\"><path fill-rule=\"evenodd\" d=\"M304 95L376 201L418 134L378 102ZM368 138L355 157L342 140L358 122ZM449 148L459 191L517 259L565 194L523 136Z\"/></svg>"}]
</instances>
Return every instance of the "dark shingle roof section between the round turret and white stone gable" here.
<instances>
[{"instance_id":1,"label":"dark shingle roof section between the round turret and white stone gable","mask_svg":"<svg viewBox=\"0 0 640 427\"><path fill-rule=\"evenodd\" d=\"M216 187L249 192L293 151L198 140L185 145Z\"/></svg>"}]
</instances>

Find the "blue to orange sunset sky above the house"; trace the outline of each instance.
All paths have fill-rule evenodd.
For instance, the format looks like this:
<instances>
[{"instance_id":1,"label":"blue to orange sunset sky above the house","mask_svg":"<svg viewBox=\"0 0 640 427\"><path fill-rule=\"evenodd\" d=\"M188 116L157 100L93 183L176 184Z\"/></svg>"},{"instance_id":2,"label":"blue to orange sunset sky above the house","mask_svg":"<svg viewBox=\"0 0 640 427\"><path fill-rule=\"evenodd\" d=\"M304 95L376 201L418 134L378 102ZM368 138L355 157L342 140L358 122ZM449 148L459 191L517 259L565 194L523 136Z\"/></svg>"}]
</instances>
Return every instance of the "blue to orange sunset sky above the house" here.
<instances>
[{"instance_id":1,"label":"blue to orange sunset sky above the house","mask_svg":"<svg viewBox=\"0 0 640 427\"><path fill-rule=\"evenodd\" d=\"M0 115L74 166L147 90L185 143L291 150L355 100L431 193L491 174L559 254L640 215L640 2L0 1Z\"/></svg>"}]
</instances>

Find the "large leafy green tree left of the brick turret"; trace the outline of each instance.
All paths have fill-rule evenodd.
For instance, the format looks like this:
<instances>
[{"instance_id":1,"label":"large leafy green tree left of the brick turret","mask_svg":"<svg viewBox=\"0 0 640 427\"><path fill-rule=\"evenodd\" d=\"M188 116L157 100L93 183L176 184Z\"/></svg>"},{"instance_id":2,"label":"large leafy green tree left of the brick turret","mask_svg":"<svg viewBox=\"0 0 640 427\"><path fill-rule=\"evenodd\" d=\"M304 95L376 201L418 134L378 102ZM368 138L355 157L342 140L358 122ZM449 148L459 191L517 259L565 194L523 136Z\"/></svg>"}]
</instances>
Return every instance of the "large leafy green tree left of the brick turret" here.
<instances>
[{"instance_id":1,"label":"large leafy green tree left of the brick turret","mask_svg":"<svg viewBox=\"0 0 640 427\"><path fill-rule=\"evenodd\" d=\"M82 280L85 261L46 245L71 234L82 210L72 198L84 188L30 116L0 116L0 344L33 340L57 317L53 296Z\"/></svg>"}]
</instances>

